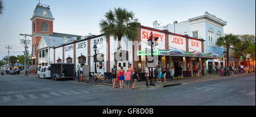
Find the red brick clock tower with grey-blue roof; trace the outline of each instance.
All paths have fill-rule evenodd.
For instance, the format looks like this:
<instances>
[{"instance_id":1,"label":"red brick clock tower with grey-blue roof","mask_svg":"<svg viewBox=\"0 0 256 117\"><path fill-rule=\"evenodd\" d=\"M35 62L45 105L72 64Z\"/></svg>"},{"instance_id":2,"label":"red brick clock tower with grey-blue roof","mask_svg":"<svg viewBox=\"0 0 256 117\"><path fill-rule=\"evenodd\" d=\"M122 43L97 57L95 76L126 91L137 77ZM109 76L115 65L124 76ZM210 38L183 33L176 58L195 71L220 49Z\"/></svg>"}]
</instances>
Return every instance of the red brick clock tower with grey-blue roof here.
<instances>
[{"instance_id":1,"label":"red brick clock tower with grey-blue roof","mask_svg":"<svg viewBox=\"0 0 256 117\"><path fill-rule=\"evenodd\" d=\"M32 65L38 66L39 41L43 35L53 35L53 16L48 5L38 3L30 19L32 21ZM36 71L36 70L35 70Z\"/></svg>"}]
</instances>

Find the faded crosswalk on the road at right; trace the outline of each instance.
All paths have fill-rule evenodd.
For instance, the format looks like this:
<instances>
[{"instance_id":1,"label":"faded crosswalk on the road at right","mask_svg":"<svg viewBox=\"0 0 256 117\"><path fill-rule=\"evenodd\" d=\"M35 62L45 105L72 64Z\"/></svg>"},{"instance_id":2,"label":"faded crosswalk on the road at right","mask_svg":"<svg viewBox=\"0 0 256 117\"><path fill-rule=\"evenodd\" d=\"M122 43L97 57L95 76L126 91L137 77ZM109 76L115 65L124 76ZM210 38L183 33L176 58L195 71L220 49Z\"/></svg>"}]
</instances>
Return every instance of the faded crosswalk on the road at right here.
<instances>
[{"instance_id":1,"label":"faded crosswalk on the road at right","mask_svg":"<svg viewBox=\"0 0 256 117\"><path fill-rule=\"evenodd\" d=\"M249 91L249 90L237 90L237 89L226 89L226 87L220 87L220 86L205 86L205 85L177 85L169 87L170 89L191 89L191 90L201 90L201 91L211 91L211 92L224 92L224 93L240 93L245 94L249 96L255 95L255 91ZM169 90L169 89L167 89Z\"/></svg>"}]
</instances>

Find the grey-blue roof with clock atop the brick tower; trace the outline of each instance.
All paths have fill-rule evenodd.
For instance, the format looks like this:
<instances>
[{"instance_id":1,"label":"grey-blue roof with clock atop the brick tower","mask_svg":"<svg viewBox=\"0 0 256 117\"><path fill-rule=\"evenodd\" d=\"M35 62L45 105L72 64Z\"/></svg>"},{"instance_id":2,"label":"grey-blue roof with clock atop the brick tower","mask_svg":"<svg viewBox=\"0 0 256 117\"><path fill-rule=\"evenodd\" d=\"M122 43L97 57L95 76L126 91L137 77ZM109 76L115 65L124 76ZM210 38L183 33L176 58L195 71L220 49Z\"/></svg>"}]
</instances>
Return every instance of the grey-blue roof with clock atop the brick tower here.
<instances>
[{"instance_id":1,"label":"grey-blue roof with clock atop the brick tower","mask_svg":"<svg viewBox=\"0 0 256 117\"><path fill-rule=\"evenodd\" d=\"M54 20L49 5L44 5L42 3L38 3L38 5L36 5L33 16L30 20L34 19L35 17Z\"/></svg>"}]
</instances>

